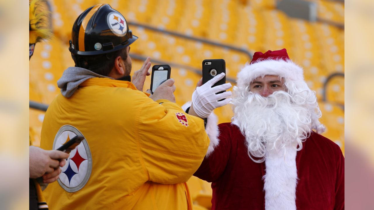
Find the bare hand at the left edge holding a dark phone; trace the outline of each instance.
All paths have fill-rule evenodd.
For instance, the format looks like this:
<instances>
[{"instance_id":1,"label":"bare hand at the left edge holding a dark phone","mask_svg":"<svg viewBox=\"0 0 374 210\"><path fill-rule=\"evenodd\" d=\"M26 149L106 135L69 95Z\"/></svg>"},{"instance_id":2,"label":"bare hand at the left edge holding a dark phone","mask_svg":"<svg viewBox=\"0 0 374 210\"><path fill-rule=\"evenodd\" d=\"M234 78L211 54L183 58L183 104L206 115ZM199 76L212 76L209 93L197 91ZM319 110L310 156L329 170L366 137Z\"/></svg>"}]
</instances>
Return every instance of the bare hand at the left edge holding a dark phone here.
<instances>
[{"instance_id":1,"label":"bare hand at the left edge holding a dark phone","mask_svg":"<svg viewBox=\"0 0 374 210\"><path fill-rule=\"evenodd\" d=\"M61 173L61 169L58 169L65 165L65 158L69 157L69 154L66 152L44 150L36 146L30 146L29 151L30 178L33 179L41 177L45 173L53 173L52 175L55 175L57 172ZM57 175L59 175L59 173Z\"/></svg>"}]
</instances>

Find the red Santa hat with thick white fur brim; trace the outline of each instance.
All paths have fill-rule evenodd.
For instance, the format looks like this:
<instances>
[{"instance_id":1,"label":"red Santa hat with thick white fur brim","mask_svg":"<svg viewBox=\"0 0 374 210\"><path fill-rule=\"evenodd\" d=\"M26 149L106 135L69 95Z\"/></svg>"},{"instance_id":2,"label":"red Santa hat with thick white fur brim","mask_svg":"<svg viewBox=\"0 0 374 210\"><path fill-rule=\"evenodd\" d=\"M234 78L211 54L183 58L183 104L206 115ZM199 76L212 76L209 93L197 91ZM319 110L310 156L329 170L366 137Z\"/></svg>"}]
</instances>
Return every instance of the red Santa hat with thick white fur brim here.
<instances>
[{"instance_id":1,"label":"red Santa hat with thick white fur brim","mask_svg":"<svg viewBox=\"0 0 374 210\"><path fill-rule=\"evenodd\" d=\"M265 75L279 75L285 81L304 81L303 69L289 59L286 49L281 49L255 52L251 63L237 74L237 86L246 87Z\"/></svg>"}]
</instances>

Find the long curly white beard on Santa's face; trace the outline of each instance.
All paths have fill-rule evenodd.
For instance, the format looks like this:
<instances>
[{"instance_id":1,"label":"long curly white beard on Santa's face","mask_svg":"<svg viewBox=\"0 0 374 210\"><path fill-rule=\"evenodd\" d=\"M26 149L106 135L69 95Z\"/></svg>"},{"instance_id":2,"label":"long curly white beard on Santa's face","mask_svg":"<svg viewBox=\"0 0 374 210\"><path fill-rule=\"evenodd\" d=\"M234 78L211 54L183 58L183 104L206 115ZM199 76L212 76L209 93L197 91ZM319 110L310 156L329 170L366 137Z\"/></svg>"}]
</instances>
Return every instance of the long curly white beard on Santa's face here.
<instances>
[{"instance_id":1,"label":"long curly white beard on Santa's face","mask_svg":"<svg viewBox=\"0 0 374 210\"><path fill-rule=\"evenodd\" d=\"M318 121L321 112L310 90L292 96L277 91L262 97L234 87L234 93L232 123L245 135L248 155L257 163L263 162L272 150L282 156L286 148L301 150L312 129L322 126Z\"/></svg>"}]
</instances>

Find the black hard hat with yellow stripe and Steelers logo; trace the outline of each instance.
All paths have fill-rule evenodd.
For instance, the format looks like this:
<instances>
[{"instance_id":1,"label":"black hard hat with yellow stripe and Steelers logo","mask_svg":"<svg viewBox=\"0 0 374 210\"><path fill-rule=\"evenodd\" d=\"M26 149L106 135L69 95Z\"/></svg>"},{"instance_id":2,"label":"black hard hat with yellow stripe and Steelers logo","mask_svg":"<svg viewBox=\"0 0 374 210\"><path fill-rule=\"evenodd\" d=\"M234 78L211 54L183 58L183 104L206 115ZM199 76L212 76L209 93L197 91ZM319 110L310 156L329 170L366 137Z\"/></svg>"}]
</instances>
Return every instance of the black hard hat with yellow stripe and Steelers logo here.
<instances>
[{"instance_id":1,"label":"black hard hat with yellow stripe and Steelers logo","mask_svg":"<svg viewBox=\"0 0 374 210\"><path fill-rule=\"evenodd\" d=\"M98 4L74 22L69 50L74 55L99 55L127 47L137 39L121 13L109 4Z\"/></svg>"}]
</instances>

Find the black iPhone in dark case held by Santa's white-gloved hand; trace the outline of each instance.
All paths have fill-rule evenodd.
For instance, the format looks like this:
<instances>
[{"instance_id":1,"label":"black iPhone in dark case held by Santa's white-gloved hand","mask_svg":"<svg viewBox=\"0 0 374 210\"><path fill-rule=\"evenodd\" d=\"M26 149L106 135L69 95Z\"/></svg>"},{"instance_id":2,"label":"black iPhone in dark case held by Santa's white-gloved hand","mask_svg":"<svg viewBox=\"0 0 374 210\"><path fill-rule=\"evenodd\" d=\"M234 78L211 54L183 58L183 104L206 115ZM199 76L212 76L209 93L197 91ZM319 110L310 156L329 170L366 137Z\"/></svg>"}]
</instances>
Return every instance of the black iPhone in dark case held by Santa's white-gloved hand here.
<instances>
[{"instance_id":1,"label":"black iPhone in dark case held by Santa's white-gloved hand","mask_svg":"<svg viewBox=\"0 0 374 210\"><path fill-rule=\"evenodd\" d=\"M211 80L213 77L217 76L224 72L226 74L226 62L224 59L206 59L203 61L203 84L207 81ZM226 75L217 83L215 83L212 87L225 84L226 83ZM219 93L223 93L225 91L221 91ZM216 93L216 94L219 94ZM220 101L222 101L221 99Z\"/></svg>"}]
</instances>

